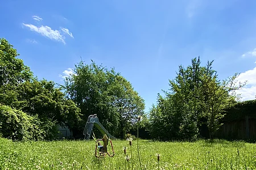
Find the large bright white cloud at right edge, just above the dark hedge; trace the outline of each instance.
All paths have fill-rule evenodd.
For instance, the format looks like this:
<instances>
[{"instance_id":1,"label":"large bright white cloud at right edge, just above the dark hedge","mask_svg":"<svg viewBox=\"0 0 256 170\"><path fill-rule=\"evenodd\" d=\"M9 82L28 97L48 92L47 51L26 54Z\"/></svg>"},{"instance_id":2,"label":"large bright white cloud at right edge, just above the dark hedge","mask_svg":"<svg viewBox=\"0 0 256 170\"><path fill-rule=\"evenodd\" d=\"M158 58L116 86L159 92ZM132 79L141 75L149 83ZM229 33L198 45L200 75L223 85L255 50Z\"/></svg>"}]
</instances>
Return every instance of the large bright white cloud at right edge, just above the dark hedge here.
<instances>
[{"instance_id":1,"label":"large bright white cloud at right edge, just above the dark hedge","mask_svg":"<svg viewBox=\"0 0 256 170\"><path fill-rule=\"evenodd\" d=\"M241 83L247 81L246 86L237 91L237 94L241 94L241 100L254 100L256 96L256 67L241 73L236 80Z\"/></svg>"}]
</instances>

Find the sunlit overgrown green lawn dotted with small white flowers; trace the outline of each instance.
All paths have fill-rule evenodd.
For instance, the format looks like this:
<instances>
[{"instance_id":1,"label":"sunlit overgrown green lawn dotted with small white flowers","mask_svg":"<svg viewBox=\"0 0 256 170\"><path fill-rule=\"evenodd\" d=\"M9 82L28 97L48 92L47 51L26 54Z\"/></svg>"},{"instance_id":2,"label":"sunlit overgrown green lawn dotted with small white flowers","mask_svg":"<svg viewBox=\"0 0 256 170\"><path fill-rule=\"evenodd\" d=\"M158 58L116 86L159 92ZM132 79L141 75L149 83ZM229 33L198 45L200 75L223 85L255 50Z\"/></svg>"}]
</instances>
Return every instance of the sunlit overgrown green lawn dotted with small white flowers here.
<instances>
[{"instance_id":1,"label":"sunlit overgrown green lawn dotted with small white flowers","mask_svg":"<svg viewBox=\"0 0 256 170\"><path fill-rule=\"evenodd\" d=\"M94 141L12 142L0 138L0 169L140 169L137 141L113 141L115 155L94 157ZM110 147L109 147L110 148ZM256 145L245 142L139 141L143 169L256 169ZM160 154L158 164L157 155ZM159 167L158 167L159 165Z\"/></svg>"}]
</instances>

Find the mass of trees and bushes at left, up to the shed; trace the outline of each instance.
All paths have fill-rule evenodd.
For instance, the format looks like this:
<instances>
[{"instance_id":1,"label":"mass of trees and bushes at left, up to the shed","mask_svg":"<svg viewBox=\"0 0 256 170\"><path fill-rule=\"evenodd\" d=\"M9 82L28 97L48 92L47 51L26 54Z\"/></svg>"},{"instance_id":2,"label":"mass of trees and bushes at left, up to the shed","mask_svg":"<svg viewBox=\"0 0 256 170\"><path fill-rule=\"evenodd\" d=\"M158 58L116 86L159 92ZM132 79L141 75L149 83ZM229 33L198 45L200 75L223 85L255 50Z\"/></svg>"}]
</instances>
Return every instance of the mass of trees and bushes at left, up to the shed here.
<instances>
[{"instance_id":1,"label":"mass of trees and bushes at left, up to the shed","mask_svg":"<svg viewBox=\"0 0 256 170\"><path fill-rule=\"evenodd\" d=\"M56 124L63 123L72 130L80 121L80 109L54 82L34 78L17 56L13 45L0 39L0 104L5 105L2 118L8 120L0 124L3 137L53 139Z\"/></svg>"}]
</instances>

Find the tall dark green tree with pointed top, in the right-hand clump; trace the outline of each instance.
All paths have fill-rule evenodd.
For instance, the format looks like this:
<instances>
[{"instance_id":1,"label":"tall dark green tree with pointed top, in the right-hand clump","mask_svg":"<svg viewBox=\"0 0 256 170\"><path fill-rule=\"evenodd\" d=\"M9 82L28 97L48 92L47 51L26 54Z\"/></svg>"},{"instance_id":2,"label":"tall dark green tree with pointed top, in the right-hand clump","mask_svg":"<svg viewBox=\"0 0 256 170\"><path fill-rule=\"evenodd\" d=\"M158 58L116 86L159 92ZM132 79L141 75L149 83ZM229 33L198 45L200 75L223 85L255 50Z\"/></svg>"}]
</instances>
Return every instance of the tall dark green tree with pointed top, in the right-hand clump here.
<instances>
[{"instance_id":1,"label":"tall dark green tree with pointed top, in the right-hand clump","mask_svg":"<svg viewBox=\"0 0 256 170\"><path fill-rule=\"evenodd\" d=\"M179 72L174 80L170 80L170 91L166 92L169 100L173 101L172 111L175 120L179 121L179 138L195 139L199 133L201 108L198 104L201 86L200 58L193 58L191 66L179 66Z\"/></svg>"}]
</instances>

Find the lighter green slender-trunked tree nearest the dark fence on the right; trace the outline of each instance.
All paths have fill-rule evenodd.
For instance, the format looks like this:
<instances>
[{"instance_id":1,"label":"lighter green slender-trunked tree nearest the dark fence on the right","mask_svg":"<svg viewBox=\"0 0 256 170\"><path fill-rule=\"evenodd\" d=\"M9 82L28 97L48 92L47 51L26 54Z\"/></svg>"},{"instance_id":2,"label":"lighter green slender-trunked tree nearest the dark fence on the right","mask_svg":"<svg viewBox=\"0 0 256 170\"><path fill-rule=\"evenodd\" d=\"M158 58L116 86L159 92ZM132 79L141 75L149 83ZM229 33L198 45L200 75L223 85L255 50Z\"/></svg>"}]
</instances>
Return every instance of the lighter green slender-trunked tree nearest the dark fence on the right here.
<instances>
[{"instance_id":1,"label":"lighter green slender-trunked tree nearest the dark fence on the right","mask_svg":"<svg viewBox=\"0 0 256 170\"><path fill-rule=\"evenodd\" d=\"M211 64L208 64L208 67L210 66ZM235 82L238 75L235 74L222 82L217 79L217 74L203 75L201 78L203 86L200 88L200 106L203 108L204 116L207 117L210 139L222 125L220 120L225 116L224 109L236 102L236 96L230 95L230 92L239 90L245 85Z\"/></svg>"}]
</instances>

